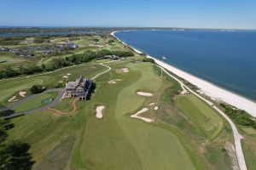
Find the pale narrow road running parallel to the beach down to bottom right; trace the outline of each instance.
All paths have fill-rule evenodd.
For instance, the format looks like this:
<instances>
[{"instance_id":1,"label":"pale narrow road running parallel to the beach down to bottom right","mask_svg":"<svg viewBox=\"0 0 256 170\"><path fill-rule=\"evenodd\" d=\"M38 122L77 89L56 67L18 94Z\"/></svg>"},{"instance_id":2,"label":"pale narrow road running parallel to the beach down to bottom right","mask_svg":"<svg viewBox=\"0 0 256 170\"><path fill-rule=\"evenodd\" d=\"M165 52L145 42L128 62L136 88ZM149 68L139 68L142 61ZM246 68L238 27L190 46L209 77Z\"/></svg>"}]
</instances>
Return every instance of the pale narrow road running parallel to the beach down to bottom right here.
<instances>
[{"instance_id":1,"label":"pale narrow road running parallel to the beach down to bottom right","mask_svg":"<svg viewBox=\"0 0 256 170\"><path fill-rule=\"evenodd\" d=\"M188 89L190 93L195 94L195 96L197 96L198 98L202 99L203 101L205 101L208 105L210 105L213 109L215 109L216 111L218 111L218 113L224 117L224 119L230 123L230 126L232 128L233 131L233 135L234 135L234 139L235 139L235 147L236 147L236 157L237 157L237 161L239 164L239 167L241 170L247 170L247 165L242 153L242 149L241 149L241 139L242 136L241 134L238 132L236 125L234 124L234 122L231 121L230 117L227 116L223 111L221 111L220 109L218 109L218 107L216 105L214 105L210 100L205 99L203 97L201 97L201 95L196 94L192 89L190 89L189 87L187 87L183 82L181 82L177 77L172 76L172 74L170 74L168 71L166 71L166 69L164 69L163 67L159 66L160 69L162 69L164 72L166 72L166 74L170 77L172 77L173 79L175 79L177 82L180 83L180 85L182 86L183 89Z\"/></svg>"}]
</instances>

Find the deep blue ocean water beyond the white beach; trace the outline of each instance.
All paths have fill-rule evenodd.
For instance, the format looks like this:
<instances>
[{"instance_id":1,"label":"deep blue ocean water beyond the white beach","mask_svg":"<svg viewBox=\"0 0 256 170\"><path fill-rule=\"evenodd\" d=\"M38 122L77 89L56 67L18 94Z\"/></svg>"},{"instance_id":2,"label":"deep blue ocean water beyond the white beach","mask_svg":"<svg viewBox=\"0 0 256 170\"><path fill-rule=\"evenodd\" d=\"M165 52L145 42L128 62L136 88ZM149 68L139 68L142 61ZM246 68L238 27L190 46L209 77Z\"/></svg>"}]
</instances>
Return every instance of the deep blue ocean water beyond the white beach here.
<instances>
[{"instance_id":1,"label":"deep blue ocean water beyond the white beach","mask_svg":"<svg viewBox=\"0 0 256 170\"><path fill-rule=\"evenodd\" d=\"M119 31L123 42L256 101L256 31Z\"/></svg>"}]
</instances>

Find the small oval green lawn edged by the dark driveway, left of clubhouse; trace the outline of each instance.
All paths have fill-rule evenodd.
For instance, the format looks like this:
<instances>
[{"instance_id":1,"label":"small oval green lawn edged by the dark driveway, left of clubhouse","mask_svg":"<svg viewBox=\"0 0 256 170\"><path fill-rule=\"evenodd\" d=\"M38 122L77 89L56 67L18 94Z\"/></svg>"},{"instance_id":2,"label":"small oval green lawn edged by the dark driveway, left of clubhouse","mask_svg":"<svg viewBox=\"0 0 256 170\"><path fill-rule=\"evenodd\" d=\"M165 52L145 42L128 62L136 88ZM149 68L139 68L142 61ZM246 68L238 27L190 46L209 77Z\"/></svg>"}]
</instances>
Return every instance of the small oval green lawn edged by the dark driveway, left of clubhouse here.
<instances>
[{"instance_id":1,"label":"small oval green lawn edged by the dark driveway, left of clubhouse","mask_svg":"<svg viewBox=\"0 0 256 170\"><path fill-rule=\"evenodd\" d=\"M22 112L22 111L31 111L33 109L38 109L40 107L43 107L44 105L49 105L49 103L45 104L44 100L46 100L46 99L54 100L57 95L58 95L58 93L55 93L55 92L38 94L37 96L33 97L32 99L28 99L24 103L15 106L15 108L13 110L15 112Z\"/></svg>"}]
</instances>

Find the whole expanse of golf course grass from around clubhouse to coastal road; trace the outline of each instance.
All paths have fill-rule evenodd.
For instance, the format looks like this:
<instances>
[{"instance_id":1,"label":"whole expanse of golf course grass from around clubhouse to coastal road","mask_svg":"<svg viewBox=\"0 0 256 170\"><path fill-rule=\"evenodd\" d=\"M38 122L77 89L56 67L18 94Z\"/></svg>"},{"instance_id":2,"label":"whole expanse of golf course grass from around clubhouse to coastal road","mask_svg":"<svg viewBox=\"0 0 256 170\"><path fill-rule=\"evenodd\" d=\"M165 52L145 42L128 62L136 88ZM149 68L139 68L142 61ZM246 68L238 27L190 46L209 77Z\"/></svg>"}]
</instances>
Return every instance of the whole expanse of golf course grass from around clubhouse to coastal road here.
<instances>
[{"instance_id":1,"label":"whole expanse of golf course grass from around clubhouse to coastal road","mask_svg":"<svg viewBox=\"0 0 256 170\"><path fill-rule=\"evenodd\" d=\"M161 78L160 69L152 63L121 60L105 65L111 70L94 80L94 94L88 101L78 101L75 113L60 115L45 110L10 120L14 128L8 131L7 141L30 144L29 151L35 161L33 169L191 170L216 169L218 163L223 166L219 169L228 166L225 161L208 159L212 154L222 154L219 146L212 146L213 151L208 152L207 144L219 135L226 135L223 127L227 126L212 108L193 95L180 96L179 84L166 75ZM129 71L122 71L123 68ZM33 83L54 86L67 73L73 80L81 75L94 77L102 71L107 68L81 65L30 77L31 84L17 79L0 82L0 87L12 85L9 93L15 94ZM108 83L115 79L121 81ZM24 83L22 89L19 83ZM142 96L137 92L153 95ZM4 94L1 101L9 97L11 95ZM54 109L72 111L73 100L61 102ZM150 105L152 103L154 105ZM97 119L96 107L100 105L104 105L104 113L102 119ZM157 111L155 106L159 107ZM131 117L143 108L148 111L140 116L154 122ZM204 125L205 116L214 120L210 130L207 128L210 125ZM195 138L191 138L191 134Z\"/></svg>"}]
</instances>

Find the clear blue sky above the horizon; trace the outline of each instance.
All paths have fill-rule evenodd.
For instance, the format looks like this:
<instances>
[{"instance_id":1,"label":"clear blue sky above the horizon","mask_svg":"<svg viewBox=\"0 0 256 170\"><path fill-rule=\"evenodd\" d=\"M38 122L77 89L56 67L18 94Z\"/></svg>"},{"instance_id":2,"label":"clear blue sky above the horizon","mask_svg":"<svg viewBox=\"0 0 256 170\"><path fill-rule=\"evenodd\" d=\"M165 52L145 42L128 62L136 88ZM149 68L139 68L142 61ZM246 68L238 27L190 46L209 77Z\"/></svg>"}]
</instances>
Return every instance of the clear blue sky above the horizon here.
<instances>
[{"instance_id":1,"label":"clear blue sky above the horizon","mask_svg":"<svg viewBox=\"0 0 256 170\"><path fill-rule=\"evenodd\" d=\"M256 0L0 0L0 26L256 29Z\"/></svg>"}]
</instances>

